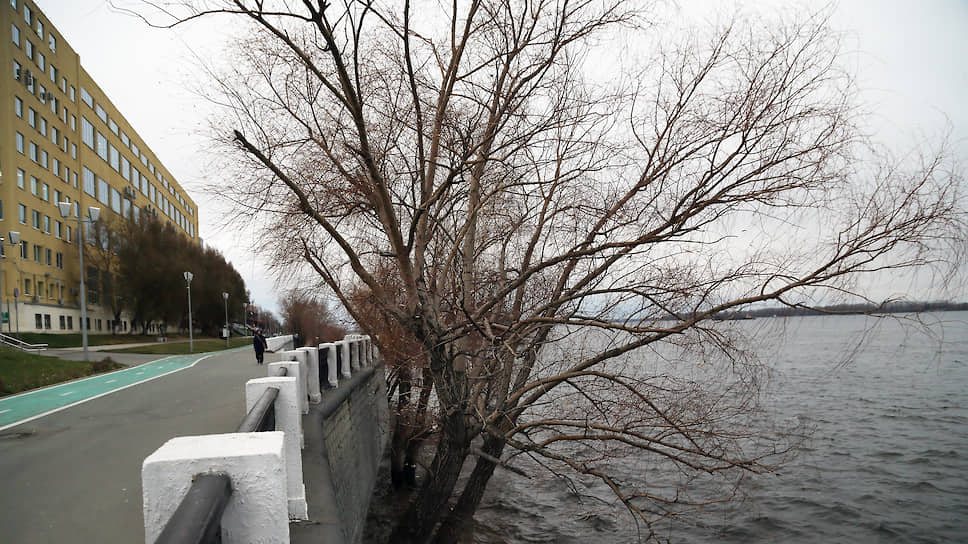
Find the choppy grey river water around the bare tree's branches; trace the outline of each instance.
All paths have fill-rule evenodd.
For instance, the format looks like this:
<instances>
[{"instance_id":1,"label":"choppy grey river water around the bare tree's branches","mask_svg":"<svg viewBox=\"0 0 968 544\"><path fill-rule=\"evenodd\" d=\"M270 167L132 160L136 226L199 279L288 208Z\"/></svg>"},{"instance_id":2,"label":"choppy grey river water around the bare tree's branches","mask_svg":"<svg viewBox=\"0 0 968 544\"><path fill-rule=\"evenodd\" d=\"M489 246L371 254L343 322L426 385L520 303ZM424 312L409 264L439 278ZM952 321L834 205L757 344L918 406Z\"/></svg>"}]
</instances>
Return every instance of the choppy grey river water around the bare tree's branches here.
<instances>
[{"instance_id":1,"label":"choppy grey river water around the bare tree's branches","mask_svg":"<svg viewBox=\"0 0 968 544\"><path fill-rule=\"evenodd\" d=\"M920 319L926 327L864 316L728 324L761 338L779 420L813 432L778 473L659 526L661 540L968 542L968 312ZM607 493L577 491L499 470L473 542L639 541Z\"/></svg>"}]
</instances>

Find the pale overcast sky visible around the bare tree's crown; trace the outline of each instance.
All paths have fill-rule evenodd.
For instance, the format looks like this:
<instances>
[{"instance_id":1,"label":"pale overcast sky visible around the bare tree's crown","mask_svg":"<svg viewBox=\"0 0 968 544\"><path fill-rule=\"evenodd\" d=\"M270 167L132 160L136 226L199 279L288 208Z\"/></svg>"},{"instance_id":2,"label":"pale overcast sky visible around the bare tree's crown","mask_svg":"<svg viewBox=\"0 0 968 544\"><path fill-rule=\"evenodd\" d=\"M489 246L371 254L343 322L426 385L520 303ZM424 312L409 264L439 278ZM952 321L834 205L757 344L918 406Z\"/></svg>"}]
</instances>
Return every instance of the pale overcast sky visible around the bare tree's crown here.
<instances>
[{"instance_id":1,"label":"pale overcast sky visible around the bare tree's crown","mask_svg":"<svg viewBox=\"0 0 968 544\"><path fill-rule=\"evenodd\" d=\"M208 105L189 92L204 88L193 55L219 51L220 37L204 20L180 31L157 30L113 11L105 0L36 0L99 83L200 208L200 232L245 279L255 302L278 310L265 263L249 250L253 234L225 228L202 191ZM131 2L125 2L130 4ZM680 0L705 13L723 2ZM739 1L743 9L773 9L777 0ZM807 3L806 5L811 5ZM819 6L819 4L817 4ZM902 147L934 139L948 128L968 158L968 2L965 0L843 0L832 25L846 32L849 62L879 137ZM958 293L966 298L968 293Z\"/></svg>"}]
</instances>

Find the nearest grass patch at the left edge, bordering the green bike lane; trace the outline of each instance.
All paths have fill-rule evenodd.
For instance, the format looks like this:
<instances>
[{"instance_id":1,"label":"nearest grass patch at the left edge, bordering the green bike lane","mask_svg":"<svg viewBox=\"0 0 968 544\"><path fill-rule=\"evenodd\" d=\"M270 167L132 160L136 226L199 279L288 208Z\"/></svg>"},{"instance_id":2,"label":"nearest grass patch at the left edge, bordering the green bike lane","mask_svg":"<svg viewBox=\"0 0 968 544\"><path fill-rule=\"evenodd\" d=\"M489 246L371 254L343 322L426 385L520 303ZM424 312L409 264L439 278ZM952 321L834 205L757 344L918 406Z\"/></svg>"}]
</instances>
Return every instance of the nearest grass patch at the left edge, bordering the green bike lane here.
<instances>
[{"instance_id":1,"label":"nearest grass patch at the left edge, bordering the green bike lane","mask_svg":"<svg viewBox=\"0 0 968 544\"><path fill-rule=\"evenodd\" d=\"M124 368L105 357L101 361L64 361L0 347L0 396Z\"/></svg>"}]
</instances>

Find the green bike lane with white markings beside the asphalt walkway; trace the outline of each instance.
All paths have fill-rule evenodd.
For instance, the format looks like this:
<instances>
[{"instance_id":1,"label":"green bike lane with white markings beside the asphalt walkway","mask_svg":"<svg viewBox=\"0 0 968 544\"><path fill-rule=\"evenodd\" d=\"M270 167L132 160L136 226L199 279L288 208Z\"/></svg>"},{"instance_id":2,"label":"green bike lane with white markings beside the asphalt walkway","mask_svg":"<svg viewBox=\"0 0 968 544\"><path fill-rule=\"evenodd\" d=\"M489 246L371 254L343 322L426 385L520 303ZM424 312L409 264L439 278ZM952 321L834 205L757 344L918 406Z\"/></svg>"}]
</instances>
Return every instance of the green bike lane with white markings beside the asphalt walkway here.
<instances>
[{"instance_id":1,"label":"green bike lane with white markings beside the asphalt walkway","mask_svg":"<svg viewBox=\"0 0 968 544\"><path fill-rule=\"evenodd\" d=\"M149 380L190 368L199 361L225 351L171 355L157 361L140 364L107 374L64 382L42 389L0 398L0 431L64 410L76 404L103 397Z\"/></svg>"}]
</instances>

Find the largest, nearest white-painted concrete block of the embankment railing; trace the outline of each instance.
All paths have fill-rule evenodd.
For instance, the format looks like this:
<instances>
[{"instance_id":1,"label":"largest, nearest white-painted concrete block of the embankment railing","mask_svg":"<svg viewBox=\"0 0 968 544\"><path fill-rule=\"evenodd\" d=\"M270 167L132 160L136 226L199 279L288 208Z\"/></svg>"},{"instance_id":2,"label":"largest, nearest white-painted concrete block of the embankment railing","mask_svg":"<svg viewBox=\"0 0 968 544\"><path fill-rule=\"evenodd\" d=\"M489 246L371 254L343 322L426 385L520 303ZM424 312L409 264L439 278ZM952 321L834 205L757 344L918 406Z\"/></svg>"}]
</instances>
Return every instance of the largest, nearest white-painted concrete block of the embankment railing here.
<instances>
[{"instance_id":1,"label":"largest, nearest white-painted concrete block of the embankment railing","mask_svg":"<svg viewBox=\"0 0 968 544\"><path fill-rule=\"evenodd\" d=\"M157 540L191 487L192 477L223 472L232 496L222 515L222 542L288 544L285 437L281 432L182 436L142 464L145 543Z\"/></svg>"}]
</instances>

